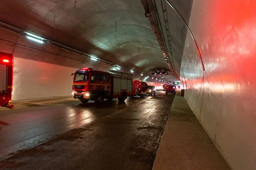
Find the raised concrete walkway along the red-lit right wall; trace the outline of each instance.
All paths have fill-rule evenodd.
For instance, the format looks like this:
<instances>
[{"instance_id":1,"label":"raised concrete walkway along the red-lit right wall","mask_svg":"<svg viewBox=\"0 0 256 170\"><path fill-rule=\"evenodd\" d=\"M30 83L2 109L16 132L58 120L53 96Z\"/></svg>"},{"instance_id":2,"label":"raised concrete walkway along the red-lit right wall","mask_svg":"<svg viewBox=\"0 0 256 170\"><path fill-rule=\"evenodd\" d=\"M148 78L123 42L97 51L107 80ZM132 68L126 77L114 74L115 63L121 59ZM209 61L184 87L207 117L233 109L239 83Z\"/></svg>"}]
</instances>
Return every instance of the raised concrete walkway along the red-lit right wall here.
<instances>
[{"instance_id":1,"label":"raised concrete walkway along the red-lit right wall","mask_svg":"<svg viewBox=\"0 0 256 170\"><path fill-rule=\"evenodd\" d=\"M180 95L173 101L153 170L230 170Z\"/></svg>"}]
</instances>

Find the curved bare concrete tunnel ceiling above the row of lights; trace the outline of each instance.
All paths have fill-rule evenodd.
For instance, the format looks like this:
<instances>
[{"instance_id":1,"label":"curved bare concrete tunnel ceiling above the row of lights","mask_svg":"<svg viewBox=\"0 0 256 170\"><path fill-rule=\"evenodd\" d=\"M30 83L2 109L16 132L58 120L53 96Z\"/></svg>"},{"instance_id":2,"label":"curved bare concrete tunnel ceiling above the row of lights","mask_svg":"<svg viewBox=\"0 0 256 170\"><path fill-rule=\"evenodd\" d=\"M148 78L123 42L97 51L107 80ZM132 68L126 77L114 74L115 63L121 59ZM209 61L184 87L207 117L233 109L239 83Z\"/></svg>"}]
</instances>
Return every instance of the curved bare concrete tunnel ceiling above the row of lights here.
<instances>
[{"instance_id":1,"label":"curved bare concrete tunnel ceiling above the row of lights","mask_svg":"<svg viewBox=\"0 0 256 170\"><path fill-rule=\"evenodd\" d=\"M140 0L3 0L4 23L150 75L167 69ZM4 8L8 6L8 8Z\"/></svg>"}]
</instances>

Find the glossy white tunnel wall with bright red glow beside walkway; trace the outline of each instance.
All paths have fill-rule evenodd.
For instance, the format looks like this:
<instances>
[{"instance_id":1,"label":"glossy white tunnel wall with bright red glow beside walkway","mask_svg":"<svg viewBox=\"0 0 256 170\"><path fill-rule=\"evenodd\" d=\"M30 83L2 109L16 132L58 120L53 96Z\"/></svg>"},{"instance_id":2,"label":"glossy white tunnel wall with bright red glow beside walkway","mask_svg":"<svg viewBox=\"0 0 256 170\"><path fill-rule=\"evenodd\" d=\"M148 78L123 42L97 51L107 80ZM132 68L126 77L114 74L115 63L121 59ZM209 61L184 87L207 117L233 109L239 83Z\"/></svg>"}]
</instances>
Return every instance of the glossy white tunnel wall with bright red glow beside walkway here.
<instances>
[{"instance_id":1,"label":"glossy white tunnel wall with bright red glow beside walkway","mask_svg":"<svg viewBox=\"0 0 256 170\"><path fill-rule=\"evenodd\" d=\"M194 0L182 56L185 99L233 170L256 169L255 0ZM183 71L183 73L182 73Z\"/></svg>"}]
</instances>

